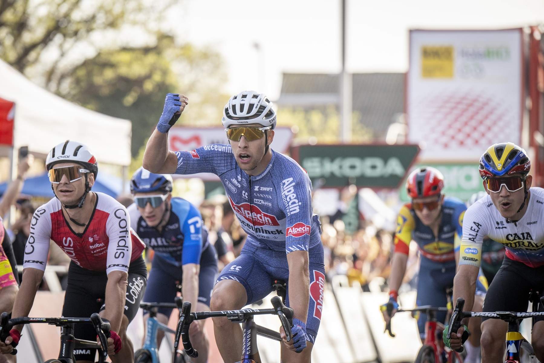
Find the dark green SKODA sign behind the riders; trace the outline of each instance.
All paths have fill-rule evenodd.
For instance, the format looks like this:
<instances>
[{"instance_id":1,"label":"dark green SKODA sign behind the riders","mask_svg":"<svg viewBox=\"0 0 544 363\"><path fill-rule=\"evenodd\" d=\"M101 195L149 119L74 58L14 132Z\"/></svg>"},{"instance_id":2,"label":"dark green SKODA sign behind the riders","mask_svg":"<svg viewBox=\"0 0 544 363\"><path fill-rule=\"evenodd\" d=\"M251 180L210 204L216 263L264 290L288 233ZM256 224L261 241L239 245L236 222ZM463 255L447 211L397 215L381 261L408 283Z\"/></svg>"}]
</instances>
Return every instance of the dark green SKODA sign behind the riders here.
<instances>
[{"instance_id":1,"label":"dark green SKODA sign behind the riders","mask_svg":"<svg viewBox=\"0 0 544 363\"><path fill-rule=\"evenodd\" d=\"M419 152L417 145L301 145L291 155L314 187L398 188Z\"/></svg>"}]
</instances>

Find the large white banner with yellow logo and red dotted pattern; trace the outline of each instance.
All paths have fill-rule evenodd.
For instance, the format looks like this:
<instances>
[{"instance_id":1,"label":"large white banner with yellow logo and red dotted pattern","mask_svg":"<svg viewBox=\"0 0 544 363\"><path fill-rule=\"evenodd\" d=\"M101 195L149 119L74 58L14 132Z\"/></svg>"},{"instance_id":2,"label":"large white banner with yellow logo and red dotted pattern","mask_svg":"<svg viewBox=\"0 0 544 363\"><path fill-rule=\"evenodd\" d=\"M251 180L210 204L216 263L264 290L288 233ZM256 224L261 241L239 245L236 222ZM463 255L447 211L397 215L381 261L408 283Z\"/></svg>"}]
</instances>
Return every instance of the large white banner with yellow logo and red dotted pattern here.
<instances>
[{"instance_id":1,"label":"large white banner with yellow logo and red dotted pattern","mask_svg":"<svg viewBox=\"0 0 544 363\"><path fill-rule=\"evenodd\" d=\"M475 161L520 144L522 30L411 30L408 142L422 161Z\"/></svg>"}]
</instances>

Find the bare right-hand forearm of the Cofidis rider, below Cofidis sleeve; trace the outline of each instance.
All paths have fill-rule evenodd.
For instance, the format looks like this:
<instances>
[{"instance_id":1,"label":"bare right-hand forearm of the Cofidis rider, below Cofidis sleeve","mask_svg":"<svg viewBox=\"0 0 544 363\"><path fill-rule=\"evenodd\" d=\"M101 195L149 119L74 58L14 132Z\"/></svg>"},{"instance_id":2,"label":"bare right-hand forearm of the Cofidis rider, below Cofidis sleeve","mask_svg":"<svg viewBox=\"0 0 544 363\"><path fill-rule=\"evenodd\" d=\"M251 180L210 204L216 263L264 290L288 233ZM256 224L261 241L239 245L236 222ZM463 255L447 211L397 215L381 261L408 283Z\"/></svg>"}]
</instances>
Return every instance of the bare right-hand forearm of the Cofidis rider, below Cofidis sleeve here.
<instances>
[{"instance_id":1,"label":"bare right-hand forearm of the Cofidis rider, below Cofidis sleeve","mask_svg":"<svg viewBox=\"0 0 544 363\"><path fill-rule=\"evenodd\" d=\"M127 279L126 272L112 271L108 274L106 309L101 315L109 320L111 329L116 333L119 333L123 312L125 311Z\"/></svg>"}]
</instances>

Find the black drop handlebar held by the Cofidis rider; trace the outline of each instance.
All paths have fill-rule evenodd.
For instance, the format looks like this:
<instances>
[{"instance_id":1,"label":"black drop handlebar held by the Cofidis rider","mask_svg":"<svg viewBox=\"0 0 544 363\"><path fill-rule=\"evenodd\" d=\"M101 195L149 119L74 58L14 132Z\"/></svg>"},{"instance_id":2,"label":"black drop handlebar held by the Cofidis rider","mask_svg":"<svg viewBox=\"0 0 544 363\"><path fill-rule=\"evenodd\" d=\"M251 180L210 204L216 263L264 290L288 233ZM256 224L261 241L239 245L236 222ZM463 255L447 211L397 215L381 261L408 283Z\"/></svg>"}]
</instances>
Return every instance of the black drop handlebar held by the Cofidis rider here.
<instances>
[{"instance_id":1,"label":"black drop handlebar held by the Cofidis rider","mask_svg":"<svg viewBox=\"0 0 544 363\"><path fill-rule=\"evenodd\" d=\"M9 319L9 314L3 312L0 315L0 340L2 342L9 336L9 331L15 325L21 324L34 324L34 323L45 323L50 325L56 325L57 327L65 327L70 324L75 323L91 323L96 330L96 334L100 338L100 344L102 345L102 354L106 358L108 354L108 341L107 339L110 336L110 324L108 319L102 319L100 315L94 313L90 318L29 318L29 317L18 317ZM14 347L17 344L14 345ZM17 354L17 349L13 349L11 352L12 355Z\"/></svg>"}]
</instances>

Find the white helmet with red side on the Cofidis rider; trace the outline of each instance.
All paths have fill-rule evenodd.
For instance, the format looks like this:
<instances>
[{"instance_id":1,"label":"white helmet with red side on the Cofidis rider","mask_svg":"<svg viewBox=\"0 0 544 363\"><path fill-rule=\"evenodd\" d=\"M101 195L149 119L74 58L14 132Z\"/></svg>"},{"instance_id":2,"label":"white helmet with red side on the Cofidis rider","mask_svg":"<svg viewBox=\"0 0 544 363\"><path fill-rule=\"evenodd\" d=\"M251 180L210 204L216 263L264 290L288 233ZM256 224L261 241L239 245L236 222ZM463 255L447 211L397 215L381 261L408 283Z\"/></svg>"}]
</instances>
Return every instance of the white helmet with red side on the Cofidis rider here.
<instances>
[{"instance_id":1,"label":"white helmet with red side on the Cofidis rider","mask_svg":"<svg viewBox=\"0 0 544 363\"><path fill-rule=\"evenodd\" d=\"M73 162L83 165L86 169L95 175L98 174L98 163L95 156L89 150L89 147L78 143L77 141L66 140L53 147L47 154L45 167L47 171L53 168L53 165L58 163Z\"/></svg>"}]
</instances>

